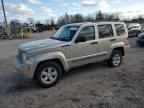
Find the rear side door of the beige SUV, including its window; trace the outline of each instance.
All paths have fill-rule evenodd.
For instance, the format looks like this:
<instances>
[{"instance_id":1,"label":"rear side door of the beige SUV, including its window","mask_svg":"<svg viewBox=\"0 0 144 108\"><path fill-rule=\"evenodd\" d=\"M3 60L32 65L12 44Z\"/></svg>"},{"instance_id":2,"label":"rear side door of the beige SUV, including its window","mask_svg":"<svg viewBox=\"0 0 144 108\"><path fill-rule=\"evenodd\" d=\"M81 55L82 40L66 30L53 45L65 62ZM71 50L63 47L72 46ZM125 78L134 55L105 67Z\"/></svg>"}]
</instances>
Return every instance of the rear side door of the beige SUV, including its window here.
<instances>
[{"instance_id":1,"label":"rear side door of the beige SUV, including its window","mask_svg":"<svg viewBox=\"0 0 144 108\"><path fill-rule=\"evenodd\" d=\"M98 54L100 60L107 59L111 44L116 41L112 24L98 24Z\"/></svg>"}]
</instances>

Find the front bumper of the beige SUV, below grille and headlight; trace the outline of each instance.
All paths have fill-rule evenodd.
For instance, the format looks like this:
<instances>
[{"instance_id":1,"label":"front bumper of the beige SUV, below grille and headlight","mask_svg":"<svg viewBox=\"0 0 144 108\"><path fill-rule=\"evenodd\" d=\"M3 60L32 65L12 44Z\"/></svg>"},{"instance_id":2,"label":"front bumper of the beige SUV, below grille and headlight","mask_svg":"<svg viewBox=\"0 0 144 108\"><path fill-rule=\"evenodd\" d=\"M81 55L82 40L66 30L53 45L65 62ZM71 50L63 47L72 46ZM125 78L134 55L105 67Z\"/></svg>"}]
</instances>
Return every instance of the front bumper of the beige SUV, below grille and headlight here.
<instances>
[{"instance_id":1,"label":"front bumper of the beige SUV, below grille and headlight","mask_svg":"<svg viewBox=\"0 0 144 108\"><path fill-rule=\"evenodd\" d=\"M23 75L25 75L28 78L33 78L33 69L32 69L32 65L31 64L22 64L18 57L16 57L15 59L15 68L17 70L17 72L22 73Z\"/></svg>"}]
</instances>

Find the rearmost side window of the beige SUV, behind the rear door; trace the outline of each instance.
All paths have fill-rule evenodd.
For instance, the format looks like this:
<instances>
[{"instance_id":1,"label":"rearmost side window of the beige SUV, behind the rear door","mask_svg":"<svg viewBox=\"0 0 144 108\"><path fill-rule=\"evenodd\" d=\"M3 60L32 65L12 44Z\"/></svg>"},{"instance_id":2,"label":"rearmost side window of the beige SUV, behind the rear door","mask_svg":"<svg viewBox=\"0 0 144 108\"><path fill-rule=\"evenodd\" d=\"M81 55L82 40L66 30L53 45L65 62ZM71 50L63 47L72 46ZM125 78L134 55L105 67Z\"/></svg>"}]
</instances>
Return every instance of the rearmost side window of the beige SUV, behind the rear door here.
<instances>
[{"instance_id":1,"label":"rearmost side window of the beige SUV, behind the rear door","mask_svg":"<svg viewBox=\"0 0 144 108\"><path fill-rule=\"evenodd\" d=\"M126 35L125 27L123 24L115 24L115 29L116 29L117 36Z\"/></svg>"}]
</instances>

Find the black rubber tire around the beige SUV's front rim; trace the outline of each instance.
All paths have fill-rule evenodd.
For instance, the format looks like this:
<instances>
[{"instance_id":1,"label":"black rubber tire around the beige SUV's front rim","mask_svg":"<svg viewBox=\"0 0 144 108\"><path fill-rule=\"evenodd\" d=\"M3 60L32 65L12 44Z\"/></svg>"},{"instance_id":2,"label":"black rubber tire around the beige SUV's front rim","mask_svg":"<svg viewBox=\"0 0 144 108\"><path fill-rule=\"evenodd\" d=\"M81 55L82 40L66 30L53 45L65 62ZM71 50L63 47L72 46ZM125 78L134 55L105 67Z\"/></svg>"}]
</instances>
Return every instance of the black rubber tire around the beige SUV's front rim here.
<instances>
[{"instance_id":1,"label":"black rubber tire around the beige SUV's front rim","mask_svg":"<svg viewBox=\"0 0 144 108\"><path fill-rule=\"evenodd\" d=\"M56 70L56 73L57 73L56 76L57 77L55 78L55 80L53 82L45 83L42 80L41 75L42 75L43 70L46 69L46 68L49 68L49 67L52 67ZM61 76L62 76L62 69L61 69L60 65L58 63L54 62L54 61L48 61L48 62L44 62L44 63L40 64L38 66L38 68L36 69L36 75L35 75L36 81L43 88L49 88L49 87L52 87L52 86L56 85L58 83L58 81L60 80Z\"/></svg>"}]
</instances>

